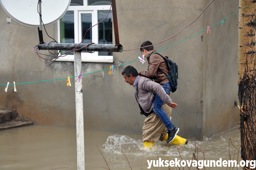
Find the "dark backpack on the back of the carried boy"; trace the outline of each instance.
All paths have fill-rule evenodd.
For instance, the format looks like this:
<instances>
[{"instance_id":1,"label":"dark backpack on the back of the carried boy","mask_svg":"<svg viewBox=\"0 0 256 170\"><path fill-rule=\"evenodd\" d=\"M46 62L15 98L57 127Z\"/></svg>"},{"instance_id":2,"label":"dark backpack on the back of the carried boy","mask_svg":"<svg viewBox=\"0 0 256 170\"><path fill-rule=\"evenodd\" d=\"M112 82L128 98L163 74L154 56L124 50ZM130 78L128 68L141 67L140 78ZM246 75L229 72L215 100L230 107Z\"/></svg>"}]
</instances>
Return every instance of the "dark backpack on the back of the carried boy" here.
<instances>
[{"instance_id":1,"label":"dark backpack on the back of the carried boy","mask_svg":"<svg viewBox=\"0 0 256 170\"><path fill-rule=\"evenodd\" d=\"M155 53L155 54L158 54L158 53ZM163 56L161 56L161 57L163 57ZM169 83L171 85L172 92L175 92L177 89L177 84L178 84L178 65L176 63L173 63L171 60L169 60L167 56L163 57L163 59L165 60L165 63L169 69L169 75L167 75L165 72L163 72L159 68L157 69L157 71L160 71L167 77L167 79L169 80Z\"/></svg>"}]
</instances>

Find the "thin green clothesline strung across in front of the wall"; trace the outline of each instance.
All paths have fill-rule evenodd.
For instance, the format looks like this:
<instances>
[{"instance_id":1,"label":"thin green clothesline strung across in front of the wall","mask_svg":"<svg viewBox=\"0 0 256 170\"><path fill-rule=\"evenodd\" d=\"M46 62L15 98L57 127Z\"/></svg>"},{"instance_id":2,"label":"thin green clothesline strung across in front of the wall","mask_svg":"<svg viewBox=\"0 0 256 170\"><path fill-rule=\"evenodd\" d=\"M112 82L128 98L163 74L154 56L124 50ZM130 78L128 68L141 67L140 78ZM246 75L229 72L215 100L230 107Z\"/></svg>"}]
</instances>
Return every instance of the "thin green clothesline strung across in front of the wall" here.
<instances>
[{"instance_id":1,"label":"thin green clothesline strung across in front of the wall","mask_svg":"<svg viewBox=\"0 0 256 170\"><path fill-rule=\"evenodd\" d=\"M237 11L237 12L239 12L239 11ZM237 12L235 12L235 13L232 14L232 15L230 15L229 17L235 15ZM229 18L229 17L227 17L227 18ZM224 21L225 21L227 18L221 20L221 21L218 22L218 23L222 23L222 25L223 25ZM218 23L216 23L216 24L210 26L209 28L211 28L211 27L217 25ZM221 26L222 26L222 25L221 25ZM207 29L208 29L208 28L207 28ZM207 29L204 29L203 31L206 31ZM200 31L199 33L202 33L203 31ZM199 33L196 33L196 34L194 34L194 35L191 35L191 36L188 37L188 38L191 38L191 37L193 37L193 36L195 36L195 35L197 35L197 34L199 34ZM186 40L186 39L188 39L188 38L185 38L185 39L183 39L183 40L181 40L181 41L179 41L179 42L176 42L175 44L178 44L178 43L180 43L180 42L182 42L182 41L184 41L184 40ZM175 45L175 44L173 44L173 45ZM168 47L166 47L166 48L164 48L164 49L161 49L161 50L159 50L159 51L157 51L157 52L155 52L155 53L158 53L158 52L160 52L160 51L162 51L162 50L165 50L165 49L167 49L167 48L169 48L169 47L171 47L171 46L173 46L173 45L170 45L170 46L168 46ZM146 56L146 57L148 57L148 56ZM140 60L140 59L138 59L138 60ZM138 60L134 60L134 61L138 61ZM129 63L132 63L132 62L134 62L134 61L131 61L131 62L129 62ZM125 63L125 64L129 64L129 63ZM125 64L122 64L122 65L125 65ZM120 67L120 66L122 66L122 65L118 65L118 66L116 66L116 67ZM113 68L116 68L116 67L113 67ZM100 71L95 71L95 72L83 74L83 75L81 75L81 76L85 76L85 75L89 75L89 74L92 74L92 73L97 73L97 72L101 72L101 71L105 71L105 70L109 70L109 68L108 68L108 69L103 69L103 70L100 70ZM80 75L79 75L79 76L80 76ZM69 78L75 78L75 77L79 77L79 76L74 76L74 77L69 77ZM63 80L63 79L67 79L67 78L53 79L53 80L43 80L43 81L38 81L38 82L15 83L15 84L29 84L29 83L49 82L49 81ZM14 84L9 84L9 85L14 85ZM0 84L0 86L7 86L7 84Z\"/></svg>"}]
</instances>

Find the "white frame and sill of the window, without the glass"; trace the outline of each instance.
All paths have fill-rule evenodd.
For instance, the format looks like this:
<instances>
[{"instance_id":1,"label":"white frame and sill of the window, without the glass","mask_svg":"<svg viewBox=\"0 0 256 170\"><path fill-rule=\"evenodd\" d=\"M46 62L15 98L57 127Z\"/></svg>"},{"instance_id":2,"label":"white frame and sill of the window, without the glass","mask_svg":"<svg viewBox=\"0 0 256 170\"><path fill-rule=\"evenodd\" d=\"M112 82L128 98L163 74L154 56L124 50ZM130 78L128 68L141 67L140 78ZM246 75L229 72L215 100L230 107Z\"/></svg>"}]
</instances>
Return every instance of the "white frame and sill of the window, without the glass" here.
<instances>
[{"instance_id":1,"label":"white frame and sill of the window, without the glass","mask_svg":"<svg viewBox=\"0 0 256 170\"><path fill-rule=\"evenodd\" d=\"M82 41L82 26L81 14L92 14L92 25L98 23L98 11L108 11L111 5L87 5L87 0L84 0L83 6L69 6L68 11L74 11L74 29L75 31L75 43L79 44ZM112 10L112 8L111 8ZM58 30L58 42L60 42L60 20L57 21ZM98 26L92 28L92 41L98 44ZM97 33L97 34L95 34ZM113 63L113 56L99 56L98 52L94 53L81 53L82 62L102 62ZM56 61L74 61L74 55L67 55L65 57L59 57Z\"/></svg>"}]
</instances>

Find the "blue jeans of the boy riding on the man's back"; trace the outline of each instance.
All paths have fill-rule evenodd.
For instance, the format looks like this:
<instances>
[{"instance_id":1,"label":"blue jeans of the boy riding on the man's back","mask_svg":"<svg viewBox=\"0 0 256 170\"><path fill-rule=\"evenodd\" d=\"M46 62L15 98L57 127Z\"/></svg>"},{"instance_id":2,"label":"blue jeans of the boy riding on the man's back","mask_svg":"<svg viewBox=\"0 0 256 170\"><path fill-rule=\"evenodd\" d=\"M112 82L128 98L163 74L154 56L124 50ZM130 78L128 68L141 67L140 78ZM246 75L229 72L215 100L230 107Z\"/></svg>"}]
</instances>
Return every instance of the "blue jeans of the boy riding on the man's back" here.
<instances>
[{"instance_id":1,"label":"blue jeans of the boy riding on the man's back","mask_svg":"<svg viewBox=\"0 0 256 170\"><path fill-rule=\"evenodd\" d=\"M163 89L165 90L166 94L169 94L171 91L171 86L170 83L163 83L161 84L161 86L163 87ZM165 125L165 127L167 129L170 129L173 127L172 122L170 121L170 118L167 116L167 114L165 113L165 111L162 109L162 104L163 101L162 99L159 97L158 94L155 94L155 98L153 100L154 103L154 107L153 107L153 111L155 112L155 114L157 114L157 116L159 116L161 118L161 120L163 121L163 124Z\"/></svg>"}]
</instances>

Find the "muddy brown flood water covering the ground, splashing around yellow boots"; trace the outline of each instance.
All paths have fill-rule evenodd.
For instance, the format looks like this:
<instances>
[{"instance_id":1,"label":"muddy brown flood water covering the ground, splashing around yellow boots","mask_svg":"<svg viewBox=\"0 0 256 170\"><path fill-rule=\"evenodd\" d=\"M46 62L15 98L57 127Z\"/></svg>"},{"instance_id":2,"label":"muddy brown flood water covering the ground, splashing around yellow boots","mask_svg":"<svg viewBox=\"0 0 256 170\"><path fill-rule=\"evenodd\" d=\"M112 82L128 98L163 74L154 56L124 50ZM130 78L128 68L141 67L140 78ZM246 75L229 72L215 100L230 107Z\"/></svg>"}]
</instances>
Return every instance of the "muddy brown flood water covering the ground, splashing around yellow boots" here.
<instances>
[{"instance_id":1,"label":"muddy brown flood water covering the ground, splashing around yellow boots","mask_svg":"<svg viewBox=\"0 0 256 170\"><path fill-rule=\"evenodd\" d=\"M193 144L196 141L197 147L204 154L190 143L177 147L166 144L165 141L158 141L153 150L144 149L141 141L142 134L138 133L85 129L84 139L85 169L89 170L108 169L108 167L110 170L147 170L147 160L159 158L192 160L193 153L197 160L203 160L203 157L206 160L219 160L219 158L230 160L229 157L231 160L241 160L241 155L238 155L241 146L239 127L219 133L209 139L205 138L203 141L188 140ZM169 168L154 167L155 170ZM0 131L0 170L53 169L77 169L75 128L31 125ZM184 167L184 169L188 168ZM196 167L191 169L196 169ZM210 167L210 169L226 170L227 167Z\"/></svg>"}]
</instances>

